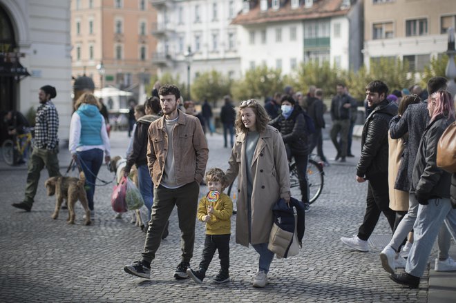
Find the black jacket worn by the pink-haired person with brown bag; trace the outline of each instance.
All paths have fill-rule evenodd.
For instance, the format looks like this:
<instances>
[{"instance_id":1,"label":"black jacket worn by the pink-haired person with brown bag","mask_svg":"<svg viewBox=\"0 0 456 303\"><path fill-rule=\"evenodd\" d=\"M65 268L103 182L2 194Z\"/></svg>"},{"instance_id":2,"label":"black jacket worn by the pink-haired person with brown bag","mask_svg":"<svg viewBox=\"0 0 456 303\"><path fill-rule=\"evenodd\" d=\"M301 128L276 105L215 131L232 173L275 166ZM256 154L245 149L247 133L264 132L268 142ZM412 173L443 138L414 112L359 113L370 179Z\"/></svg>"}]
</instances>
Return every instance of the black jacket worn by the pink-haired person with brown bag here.
<instances>
[{"instance_id":1,"label":"black jacket worn by the pink-haired person with brown bag","mask_svg":"<svg viewBox=\"0 0 456 303\"><path fill-rule=\"evenodd\" d=\"M421 137L410 188L420 204L427 204L428 199L450 197L451 174L437 167L437 143L454 120L453 117L437 116L426 126Z\"/></svg>"}]
</instances>

